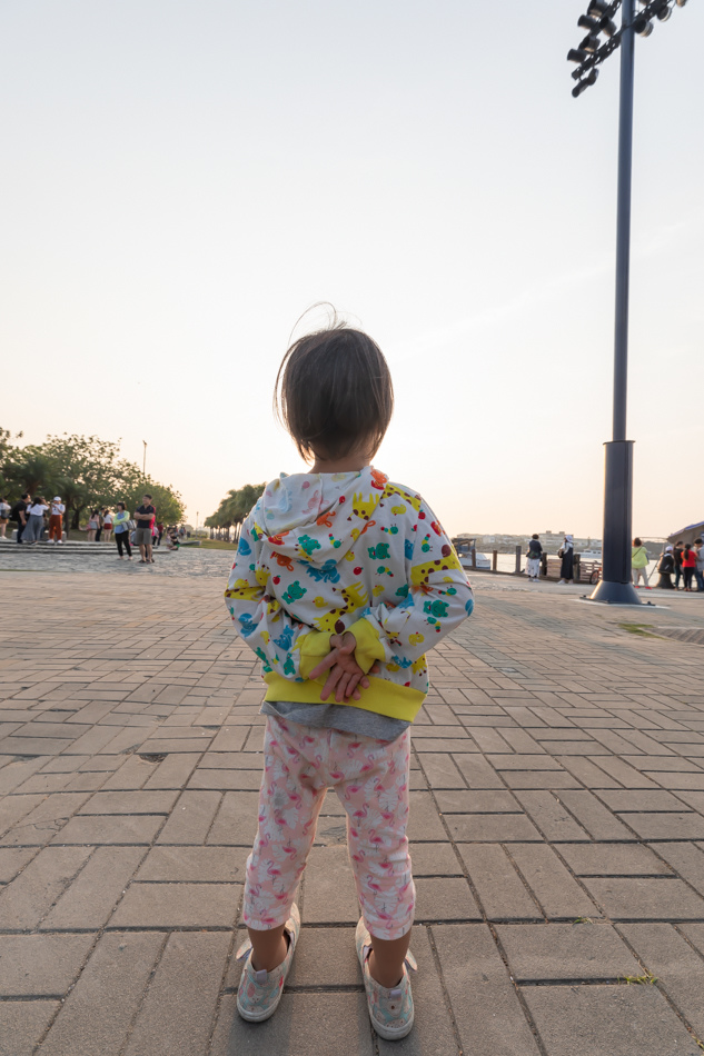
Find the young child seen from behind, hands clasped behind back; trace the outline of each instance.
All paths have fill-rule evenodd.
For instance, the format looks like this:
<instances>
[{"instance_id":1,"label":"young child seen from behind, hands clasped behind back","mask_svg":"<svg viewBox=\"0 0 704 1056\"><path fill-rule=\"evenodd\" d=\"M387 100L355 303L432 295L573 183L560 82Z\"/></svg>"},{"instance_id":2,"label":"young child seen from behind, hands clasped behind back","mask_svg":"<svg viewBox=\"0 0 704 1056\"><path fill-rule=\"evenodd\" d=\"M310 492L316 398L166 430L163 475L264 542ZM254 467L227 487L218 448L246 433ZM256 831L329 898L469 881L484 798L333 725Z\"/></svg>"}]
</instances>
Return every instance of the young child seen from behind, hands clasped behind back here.
<instances>
[{"instance_id":1,"label":"young child seen from behind, hands clasped behind back","mask_svg":"<svg viewBox=\"0 0 704 1056\"><path fill-rule=\"evenodd\" d=\"M278 1006L300 929L294 896L331 787L347 813L369 1016L389 1039L414 1018L410 724L428 691L425 652L474 605L433 510L370 465L393 404L388 366L366 333L336 325L291 345L277 410L314 465L267 485L226 590L268 687L239 1014L260 1022Z\"/></svg>"}]
</instances>

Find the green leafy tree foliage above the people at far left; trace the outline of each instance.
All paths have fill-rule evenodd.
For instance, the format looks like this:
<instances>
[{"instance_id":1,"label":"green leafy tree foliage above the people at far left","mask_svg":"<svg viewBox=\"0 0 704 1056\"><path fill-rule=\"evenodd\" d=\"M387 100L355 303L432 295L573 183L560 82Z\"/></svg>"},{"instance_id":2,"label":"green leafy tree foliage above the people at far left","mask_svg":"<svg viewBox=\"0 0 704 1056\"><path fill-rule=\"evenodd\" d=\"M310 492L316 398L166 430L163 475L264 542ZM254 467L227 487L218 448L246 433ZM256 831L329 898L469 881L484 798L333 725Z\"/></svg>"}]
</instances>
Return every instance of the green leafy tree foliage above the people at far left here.
<instances>
[{"instance_id":1,"label":"green leafy tree foliage above the people at far left","mask_svg":"<svg viewBox=\"0 0 704 1056\"><path fill-rule=\"evenodd\" d=\"M21 434L19 435L21 436ZM135 511L145 491L152 496L159 520L179 524L181 496L170 485L145 477L135 462L120 458L119 444L99 437L47 437L44 444L17 447L0 429L0 488L10 502L23 491L60 495L66 504L67 528L78 529L91 509L125 502Z\"/></svg>"}]
</instances>

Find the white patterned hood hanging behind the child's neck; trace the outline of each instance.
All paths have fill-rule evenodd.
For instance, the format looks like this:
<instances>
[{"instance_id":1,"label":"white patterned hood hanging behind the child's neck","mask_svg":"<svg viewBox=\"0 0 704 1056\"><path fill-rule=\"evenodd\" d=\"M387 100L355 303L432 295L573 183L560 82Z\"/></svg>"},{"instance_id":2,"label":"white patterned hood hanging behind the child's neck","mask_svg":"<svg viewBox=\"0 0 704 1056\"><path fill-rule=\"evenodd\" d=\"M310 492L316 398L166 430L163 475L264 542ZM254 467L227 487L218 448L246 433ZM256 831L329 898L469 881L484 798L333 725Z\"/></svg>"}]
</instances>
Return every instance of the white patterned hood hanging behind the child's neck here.
<instances>
[{"instance_id":1,"label":"white patterned hood hanging behind the child's neck","mask_svg":"<svg viewBox=\"0 0 704 1056\"><path fill-rule=\"evenodd\" d=\"M267 485L256 524L278 554L337 564L373 521L388 477L371 466L340 474L281 474Z\"/></svg>"}]
</instances>

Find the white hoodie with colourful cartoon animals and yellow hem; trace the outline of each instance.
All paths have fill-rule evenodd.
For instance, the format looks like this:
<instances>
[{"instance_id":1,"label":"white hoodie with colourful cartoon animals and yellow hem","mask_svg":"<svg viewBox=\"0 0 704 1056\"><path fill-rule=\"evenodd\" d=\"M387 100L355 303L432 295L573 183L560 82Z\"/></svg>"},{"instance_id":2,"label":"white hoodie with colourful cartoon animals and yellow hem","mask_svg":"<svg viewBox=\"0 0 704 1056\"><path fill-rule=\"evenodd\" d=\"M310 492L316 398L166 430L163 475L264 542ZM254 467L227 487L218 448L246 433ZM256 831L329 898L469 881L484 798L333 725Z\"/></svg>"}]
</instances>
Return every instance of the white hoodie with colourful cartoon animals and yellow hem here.
<instances>
[{"instance_id":1,"label":"white hoodie with colourful cartoon animals and yellow hem","mask_svg":"<svg viewBox=\"0 0 704 1056\"><path fill-rule=\"evenodd\" d=\"M309 674L350 631L369 688L350 707L413 721L425 652L474 607L457 555L415 491L366 466L267 485L245 520L227 590L237 632L262 664L267 700L320 704Z\"/></svg>"}]
</instances>

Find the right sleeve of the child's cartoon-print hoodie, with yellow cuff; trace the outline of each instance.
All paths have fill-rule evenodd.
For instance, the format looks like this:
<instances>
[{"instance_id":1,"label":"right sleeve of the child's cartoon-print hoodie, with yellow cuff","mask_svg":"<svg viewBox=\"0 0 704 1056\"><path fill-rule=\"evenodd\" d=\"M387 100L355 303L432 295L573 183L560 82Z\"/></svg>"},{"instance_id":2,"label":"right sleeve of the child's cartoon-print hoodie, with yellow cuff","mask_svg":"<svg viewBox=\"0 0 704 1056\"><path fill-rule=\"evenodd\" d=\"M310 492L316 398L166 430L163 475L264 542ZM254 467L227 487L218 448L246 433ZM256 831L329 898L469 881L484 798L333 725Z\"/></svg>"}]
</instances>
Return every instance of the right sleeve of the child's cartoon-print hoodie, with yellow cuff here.
<instances>
[{"instance_id":1,"label":"right sleeve of the child's cartoon-print hoodie, with yellow cuff","mask_svg":"<svg viewBox=\"0 0 704 1056\"><path fill-rule=\"evenodd\" d=\"M405 596L366 609L348 630L364 671L375 660L409 667L472 614L474 599L459 558L425 502L407 547ZM404 588L401 588L403 592Z\"/></svg>"}]
</instances>

